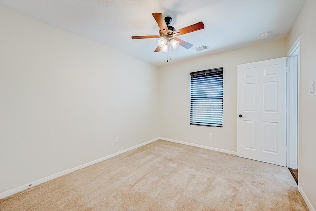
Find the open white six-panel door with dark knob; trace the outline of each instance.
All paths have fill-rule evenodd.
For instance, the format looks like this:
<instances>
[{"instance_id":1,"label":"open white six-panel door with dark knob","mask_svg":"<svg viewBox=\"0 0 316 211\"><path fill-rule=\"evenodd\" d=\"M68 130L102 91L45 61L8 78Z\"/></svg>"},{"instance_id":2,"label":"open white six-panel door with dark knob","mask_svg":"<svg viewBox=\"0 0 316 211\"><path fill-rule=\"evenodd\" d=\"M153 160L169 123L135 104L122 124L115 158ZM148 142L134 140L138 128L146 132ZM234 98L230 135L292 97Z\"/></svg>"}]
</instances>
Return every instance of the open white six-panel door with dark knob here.
<instances>
[{"instance_id":1,"label":"open white six-panel door with dark knob","mask_svg":"<svg viewBox=\"0 0 316 211\"><path fill-rule=\"evenodd\" d=\"M286 166L286 57L238 65L237 155Z\"/></svg>"}]
</instances>

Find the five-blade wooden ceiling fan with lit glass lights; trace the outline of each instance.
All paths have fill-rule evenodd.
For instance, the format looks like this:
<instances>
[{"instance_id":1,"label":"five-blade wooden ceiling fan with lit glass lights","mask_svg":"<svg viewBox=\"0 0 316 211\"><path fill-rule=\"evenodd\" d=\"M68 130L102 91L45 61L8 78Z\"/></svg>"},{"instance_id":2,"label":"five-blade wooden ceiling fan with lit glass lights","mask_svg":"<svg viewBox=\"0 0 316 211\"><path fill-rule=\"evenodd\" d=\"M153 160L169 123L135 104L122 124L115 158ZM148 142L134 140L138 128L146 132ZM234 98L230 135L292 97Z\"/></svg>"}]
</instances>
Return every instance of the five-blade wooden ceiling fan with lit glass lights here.
<instances>
[{"instance_id":1,"label":"five-blade wooden ceiling fan with lit glass lights","mask_svg":"<svg viewBox=\"0 0 316 211\"><path fill-rule=\"evenodd\" d=\"M176 49L178 45L189 49L193 46L193 44L185 42L184 40L177 38L177 36L204 29L204 23L198 22L193 25L176 30L173 26L169 25L172 21L171 17L167 16L163 18L161 13L152 13L152 15L160 28L159 35L132 36L132 39L160 38L158 40L158 46L154 52L159 52L160 50L163 52L168 52L168 43L170 43L170 45L174 49Z\"/></svg>"}]
</instances>

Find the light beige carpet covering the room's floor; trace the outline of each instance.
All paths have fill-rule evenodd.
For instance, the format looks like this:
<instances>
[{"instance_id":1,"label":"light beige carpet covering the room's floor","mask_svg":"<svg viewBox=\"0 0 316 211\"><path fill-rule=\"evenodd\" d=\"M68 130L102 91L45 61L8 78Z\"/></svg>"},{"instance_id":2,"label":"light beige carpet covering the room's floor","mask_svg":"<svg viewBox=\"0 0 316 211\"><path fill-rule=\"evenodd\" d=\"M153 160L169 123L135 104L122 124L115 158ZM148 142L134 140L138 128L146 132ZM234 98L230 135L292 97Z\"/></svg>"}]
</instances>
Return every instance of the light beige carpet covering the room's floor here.
<instances>
[{"instance_id":1,"label":"light beige carpet covering the room's floor","mask_svg":"<svg viewBox=\"0 0 316 211\"><path fill-rule=\"evenodd\" d=\"M1 211L308 211L285 167L158 140L0 201Z\"/></svg>"}]
</instances>

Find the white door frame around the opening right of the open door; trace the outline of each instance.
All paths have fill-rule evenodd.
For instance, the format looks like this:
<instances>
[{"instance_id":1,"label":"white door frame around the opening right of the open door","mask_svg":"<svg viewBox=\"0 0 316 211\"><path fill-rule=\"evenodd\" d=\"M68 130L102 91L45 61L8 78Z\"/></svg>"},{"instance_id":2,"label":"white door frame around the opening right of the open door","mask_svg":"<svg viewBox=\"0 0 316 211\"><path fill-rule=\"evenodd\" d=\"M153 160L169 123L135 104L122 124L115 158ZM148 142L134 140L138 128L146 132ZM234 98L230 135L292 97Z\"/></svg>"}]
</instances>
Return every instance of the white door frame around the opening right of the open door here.
<instances>
[{"instance_id":1,"label":"white door frame around the opening right of the open door","mask_svg":"<svg viewBox=\"0 0 316 211\"><path fill-rule=\"evenodd\" d=\"M288 51L288 53L286 54L286 57L287 59L289 59L289 57L292 57L292 56L298 56L298 64L297 64L297 142L296 142L296 156L297 156L297 169L299 168L299 126L300 126L300 42L301 42L301 36L298 37L298 39L294 42L294 44L292 45L291 49ZM298 52L298 54L297 54ZM287 73L288 70L290 69L290 65L287 66ZM288 79L287 79L288 80ZM287 83L288 84L288 83ZM290 91L289 91L289 86L287 86L287 103L289 102L289 98L291 97L290 96ZM287 104L287 113L286 113L286 118L291 120L290 118L290 115L293 115L291 114L290 109L291 108L291 103ZM286 134L287 134L287 137L286 137L286 147L287 147L287 153L286 153L286 166L287 167L290 167L289 164L290 164L290 159L291 159L291 150L289 150L289 146L291 145L290 143L290 139L288 137L288 135L290 134L290 130L293 129L291 127L289 127L289 122L287 121L287 126L286 126ZM293 145L293 143L292 143ZM295 155L294 155L295 156Z\"/></svg>"}]
</instances>

